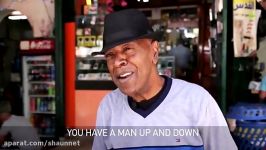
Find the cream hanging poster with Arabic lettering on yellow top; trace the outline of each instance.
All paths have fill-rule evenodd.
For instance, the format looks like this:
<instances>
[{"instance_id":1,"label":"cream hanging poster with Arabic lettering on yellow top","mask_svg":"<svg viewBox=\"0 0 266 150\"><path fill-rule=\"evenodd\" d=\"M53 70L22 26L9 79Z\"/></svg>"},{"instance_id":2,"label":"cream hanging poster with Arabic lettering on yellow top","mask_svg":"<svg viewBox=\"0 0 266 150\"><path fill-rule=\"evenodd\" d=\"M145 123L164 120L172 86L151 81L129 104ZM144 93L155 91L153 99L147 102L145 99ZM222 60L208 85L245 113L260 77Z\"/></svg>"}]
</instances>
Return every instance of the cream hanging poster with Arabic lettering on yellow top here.
<instances>
[{"instance_id":1,"label":"cream hanging poster with Arabic lettering on yellow top","mask_svg":"<svg viewBox=\"0 0 266 150\"><path fill-rule=\"evenodd\" d=\"M257 50L260 10L256 0L233 1L233 41L235 57L247 57Z\"/></svg>"}]
</instances>

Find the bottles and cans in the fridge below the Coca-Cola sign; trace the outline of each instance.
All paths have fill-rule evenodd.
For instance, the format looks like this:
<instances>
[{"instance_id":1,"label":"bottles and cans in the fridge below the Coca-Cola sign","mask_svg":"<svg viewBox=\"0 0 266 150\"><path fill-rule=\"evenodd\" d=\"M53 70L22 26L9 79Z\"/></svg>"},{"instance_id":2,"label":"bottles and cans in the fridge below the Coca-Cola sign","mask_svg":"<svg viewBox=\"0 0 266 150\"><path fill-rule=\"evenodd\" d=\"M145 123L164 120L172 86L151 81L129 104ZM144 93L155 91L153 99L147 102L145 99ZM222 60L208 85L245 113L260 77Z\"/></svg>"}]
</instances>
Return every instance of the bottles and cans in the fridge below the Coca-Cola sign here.
<instances>
[{"instance_id":1,"label":"bottles and cans in the fridge below the Coca-Cola sign","mask_svg":"<svg viewBox=\"0 0 266 150\"><path fill-rule=\"evenodd\" d=\"M55 135L55 67L51 55L23 56L24 115L41 137Z\"/></svg>"}]
</instances>

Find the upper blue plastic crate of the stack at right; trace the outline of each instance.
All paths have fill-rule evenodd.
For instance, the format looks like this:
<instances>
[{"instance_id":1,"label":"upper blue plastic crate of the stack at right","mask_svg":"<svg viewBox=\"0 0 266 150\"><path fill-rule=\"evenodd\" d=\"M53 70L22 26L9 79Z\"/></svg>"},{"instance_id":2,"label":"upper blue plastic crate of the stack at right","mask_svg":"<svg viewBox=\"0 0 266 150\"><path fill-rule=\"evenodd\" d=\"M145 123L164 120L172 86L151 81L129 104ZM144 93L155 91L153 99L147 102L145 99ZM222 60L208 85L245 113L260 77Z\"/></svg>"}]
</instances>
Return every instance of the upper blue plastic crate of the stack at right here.
<instances>
[{"instance_id":1,"label":"upper blue plastic crate of the stack at right","mask_svg":"<svg viewBox=\"0 0 266 150\"><path fill-rule=\"evenodd\" d=\"M226 118L236 120L266 120L266 104L238 103L229 108Z\"/></svg>"}]
</instances>

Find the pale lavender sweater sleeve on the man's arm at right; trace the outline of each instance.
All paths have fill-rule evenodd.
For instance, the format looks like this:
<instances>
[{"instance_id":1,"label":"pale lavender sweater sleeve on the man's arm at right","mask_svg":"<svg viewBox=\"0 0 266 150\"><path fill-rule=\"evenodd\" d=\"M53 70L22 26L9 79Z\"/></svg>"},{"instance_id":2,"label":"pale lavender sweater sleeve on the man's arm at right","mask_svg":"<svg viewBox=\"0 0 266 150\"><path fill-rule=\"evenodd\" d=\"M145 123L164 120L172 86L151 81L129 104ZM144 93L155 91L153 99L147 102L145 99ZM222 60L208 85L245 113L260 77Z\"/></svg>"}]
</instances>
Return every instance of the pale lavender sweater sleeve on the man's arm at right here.
<instances>
[{"instance_id":1,"label":"pale lavender sweater sleeve on the man's arm at right","mask_svg":"<svg viewBox=\"0 0 266 150\"><path fill-rule=\"evenodd\" d=\"M237 150L229 128L216 101L207 93L202 114L201 136L204 150Z\"/></svg>"}]
</instances>

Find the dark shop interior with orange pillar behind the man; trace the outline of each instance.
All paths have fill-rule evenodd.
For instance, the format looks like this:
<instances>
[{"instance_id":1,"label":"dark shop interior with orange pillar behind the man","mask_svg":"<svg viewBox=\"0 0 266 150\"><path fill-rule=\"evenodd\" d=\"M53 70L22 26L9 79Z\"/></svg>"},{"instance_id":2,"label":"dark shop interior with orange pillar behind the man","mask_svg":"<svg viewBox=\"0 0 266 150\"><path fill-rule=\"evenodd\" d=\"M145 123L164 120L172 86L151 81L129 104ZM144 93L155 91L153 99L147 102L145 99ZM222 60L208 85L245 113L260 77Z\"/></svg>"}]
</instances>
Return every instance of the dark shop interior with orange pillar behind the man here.
<instances>
[{"instance_id":1,"label":"dark shop interior with orange pillar behind the man","mask_svg":"<svg viewBox=\"0 0 266 150\"><path fill-rule=\"evenodd\" d=\"M203 86L225 116L237 103L266 103L258 94L266 75L264 3L255 1L261 11L256 49L237 56L232 1L40 1L42 19L36 19L36 9L16 10L23 1L0 2L0 97L10 100L12 113L29 119L43 138L63 137L66 128L95 127L101 99L116 86L104 57L91 53L102 49L105 15L122 9L141 10L153 30L163 32L160 74ZM182 69L177 62L184 56L174 52L180 44L188 50ZM266 118L266 107L260 113Z\"/></svg>"}]
</instances>

